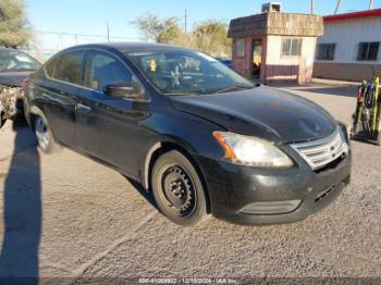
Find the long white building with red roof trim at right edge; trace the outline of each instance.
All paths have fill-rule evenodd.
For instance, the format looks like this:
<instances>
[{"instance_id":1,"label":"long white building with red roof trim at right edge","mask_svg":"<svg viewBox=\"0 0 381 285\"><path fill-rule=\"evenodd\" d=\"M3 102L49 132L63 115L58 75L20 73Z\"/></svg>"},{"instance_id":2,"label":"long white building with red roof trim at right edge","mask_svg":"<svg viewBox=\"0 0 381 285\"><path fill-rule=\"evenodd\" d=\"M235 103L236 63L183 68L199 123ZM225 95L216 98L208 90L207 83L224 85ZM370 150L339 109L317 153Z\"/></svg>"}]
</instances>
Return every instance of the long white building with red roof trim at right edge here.
<instances>
[{"instance_id":1,"label":"long white building with red roof trim at right edge","mask_svg":"<svg viewBox=\"0 0 381 285\"><path fill-rule=\"evenodd\" d=\"M323 17L318 38L314 77L370 79L381 75L381 9Z\"/></svg>"}]
</instances>

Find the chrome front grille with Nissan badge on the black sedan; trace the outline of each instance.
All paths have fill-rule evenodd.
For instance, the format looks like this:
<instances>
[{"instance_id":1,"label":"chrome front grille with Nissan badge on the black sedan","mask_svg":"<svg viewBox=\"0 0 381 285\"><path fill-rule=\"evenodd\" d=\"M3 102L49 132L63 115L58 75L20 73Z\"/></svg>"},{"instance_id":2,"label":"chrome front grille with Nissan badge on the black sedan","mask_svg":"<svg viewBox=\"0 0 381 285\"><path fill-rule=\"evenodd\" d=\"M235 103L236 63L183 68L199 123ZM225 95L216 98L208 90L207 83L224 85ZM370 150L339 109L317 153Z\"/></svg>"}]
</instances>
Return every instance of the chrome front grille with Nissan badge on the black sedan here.
<instances>
[{"instance_id":1,"label":"chrome front grille with Nissan badge on the black sedan","mask_svg":"<svg viewBox=\"0 0 381 285\"><path fill-rule=\"evenodd\" d=\"M348 145L339 128L330 136L306 142L292 144L300 157L314 171L348 153Z\"/></svg>"}]
</instances>

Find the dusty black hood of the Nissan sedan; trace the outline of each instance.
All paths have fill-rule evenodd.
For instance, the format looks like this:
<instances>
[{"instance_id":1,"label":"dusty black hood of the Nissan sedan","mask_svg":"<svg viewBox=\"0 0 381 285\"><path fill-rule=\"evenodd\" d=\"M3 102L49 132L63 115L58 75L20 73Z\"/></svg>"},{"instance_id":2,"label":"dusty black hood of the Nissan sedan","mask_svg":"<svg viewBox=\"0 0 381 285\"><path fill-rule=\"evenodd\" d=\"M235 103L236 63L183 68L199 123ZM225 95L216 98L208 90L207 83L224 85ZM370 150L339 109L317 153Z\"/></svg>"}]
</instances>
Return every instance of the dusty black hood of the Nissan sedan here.
<instances>
[{"instance_id":1,"label":"dusty black hood of the Nissan sedan","mask_svg":"<svg viewBox=\"0 0 381 285\"><path fill-rule=\"evenodd\" d=\"M266 86L226 94L174 96L171 100L175 109L230 132L276 142L321 138L336 127L336 122L320 106Z\"/></svg>"}]
</instances>

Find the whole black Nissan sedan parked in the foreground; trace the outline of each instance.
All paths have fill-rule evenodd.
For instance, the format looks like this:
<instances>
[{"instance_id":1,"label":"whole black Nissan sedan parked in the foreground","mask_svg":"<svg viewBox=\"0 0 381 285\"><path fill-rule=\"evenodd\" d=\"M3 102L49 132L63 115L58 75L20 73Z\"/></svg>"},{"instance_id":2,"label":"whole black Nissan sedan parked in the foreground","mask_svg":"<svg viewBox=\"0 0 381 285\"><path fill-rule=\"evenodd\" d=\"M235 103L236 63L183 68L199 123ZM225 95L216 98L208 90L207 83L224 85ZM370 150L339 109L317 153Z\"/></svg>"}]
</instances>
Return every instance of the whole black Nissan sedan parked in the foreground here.
<instances>
[{"instance_id":1,"label":"whole black Nissan sedan parked in the foreground","mask_svg":"<svg viewBox=\"0 0 381 285\"><path fill-rule=\"evenodd\" d=\"M44 152L62 145L113 166L181 225L208 214L241 224L300 221L349 183L345 125L189 49L73 47L26 92Z\"/></svg>"}]
</instances>

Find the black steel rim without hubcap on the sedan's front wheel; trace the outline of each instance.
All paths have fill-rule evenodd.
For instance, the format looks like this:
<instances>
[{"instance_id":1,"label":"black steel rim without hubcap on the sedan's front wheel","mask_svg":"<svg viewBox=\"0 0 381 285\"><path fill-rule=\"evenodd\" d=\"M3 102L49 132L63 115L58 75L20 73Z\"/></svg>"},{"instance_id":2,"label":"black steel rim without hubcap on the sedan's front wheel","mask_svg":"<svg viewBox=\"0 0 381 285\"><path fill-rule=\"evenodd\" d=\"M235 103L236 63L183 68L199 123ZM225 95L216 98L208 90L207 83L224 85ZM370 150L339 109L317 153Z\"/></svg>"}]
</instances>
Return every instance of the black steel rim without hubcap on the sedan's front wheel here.
<instances>
[{"instance_id":1,"label":"black steel rim without hubcap on the sedan's front wheel","mask_svg":"<svg viewBox=\"0 0 381 285\"><path fill-rule=\"evenodd\" d=\"M161 188L171 212L179 216L187 216L193 213L196 206L195 186L185 170L177 165L164 166Z\"/></svg>"}]
</instances>

